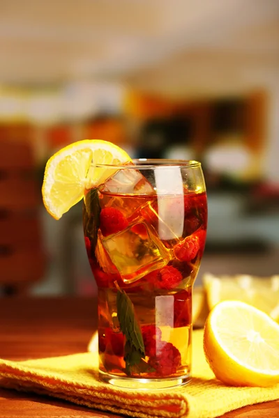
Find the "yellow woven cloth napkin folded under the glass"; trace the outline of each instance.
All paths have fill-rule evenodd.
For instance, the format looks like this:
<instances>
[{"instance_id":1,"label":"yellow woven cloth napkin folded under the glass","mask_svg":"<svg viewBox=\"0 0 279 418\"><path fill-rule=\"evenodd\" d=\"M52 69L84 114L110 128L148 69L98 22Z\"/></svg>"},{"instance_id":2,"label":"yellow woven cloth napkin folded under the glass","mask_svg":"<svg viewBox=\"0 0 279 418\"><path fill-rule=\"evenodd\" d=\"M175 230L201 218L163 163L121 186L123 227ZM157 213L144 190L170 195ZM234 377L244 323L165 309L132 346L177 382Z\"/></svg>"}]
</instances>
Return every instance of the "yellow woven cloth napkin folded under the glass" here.
<instances>
[{"instance_id":1,"label":"yellow woven cloth napkin folded under the glass","mask_svg":"<svg viewBox=\"0 0 279 418\"><path fill-rule=\"evenodd\" d=\"M10 362L0 360L0 386L86 405L131 417L218 417L229 410L279 398L272 388L227 387L214 378L193 332L193 380L177 389L119 389L98 380L97 353Z\"/></svg>"}]
</instances>

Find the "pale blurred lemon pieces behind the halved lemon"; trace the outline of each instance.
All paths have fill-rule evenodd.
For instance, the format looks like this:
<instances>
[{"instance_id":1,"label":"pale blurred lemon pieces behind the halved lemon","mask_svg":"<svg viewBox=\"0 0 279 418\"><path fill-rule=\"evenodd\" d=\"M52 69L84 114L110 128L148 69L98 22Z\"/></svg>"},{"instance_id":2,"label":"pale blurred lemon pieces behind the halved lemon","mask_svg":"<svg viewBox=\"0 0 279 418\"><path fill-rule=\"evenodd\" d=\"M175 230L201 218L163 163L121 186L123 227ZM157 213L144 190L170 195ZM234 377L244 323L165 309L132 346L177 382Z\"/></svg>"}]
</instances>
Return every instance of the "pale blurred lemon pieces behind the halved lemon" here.
<instances>
[{"instance_id":1,"label":"pale blurred lemon pieces behind the halved lemon","mask_svg":"<svg viewBox=\"0 0 279 418\"><path fill-rule=\"evenodd\" d=\"M279 322L279 276L264 278L248 274L204 274L203 281L209 309L223 300L241 300Z\"/></svg>"}]
</instances>

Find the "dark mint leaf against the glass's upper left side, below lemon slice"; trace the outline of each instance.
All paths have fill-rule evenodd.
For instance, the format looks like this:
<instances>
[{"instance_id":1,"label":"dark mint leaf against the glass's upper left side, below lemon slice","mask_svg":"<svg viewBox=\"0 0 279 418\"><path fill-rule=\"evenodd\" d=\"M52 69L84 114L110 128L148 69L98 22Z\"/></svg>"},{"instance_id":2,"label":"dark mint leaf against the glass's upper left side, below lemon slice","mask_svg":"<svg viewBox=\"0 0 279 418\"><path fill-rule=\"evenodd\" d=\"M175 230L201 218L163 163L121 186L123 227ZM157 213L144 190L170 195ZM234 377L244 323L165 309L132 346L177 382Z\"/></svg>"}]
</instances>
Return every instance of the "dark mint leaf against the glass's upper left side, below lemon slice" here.
<instances>
[{"instance_id":1,"label":"dark mint leaf against the glass's upper left side, below lemon slice","mask_svg":"<svg viewBox=\"0 0 279 418\"><path fill-rule=\"evenodd\" d=\"M100 199L97 188L89 190L84 196L83 222L84 235L91 242L91 256L94 256L100 226Z\"/></svg>"}]
</instances>

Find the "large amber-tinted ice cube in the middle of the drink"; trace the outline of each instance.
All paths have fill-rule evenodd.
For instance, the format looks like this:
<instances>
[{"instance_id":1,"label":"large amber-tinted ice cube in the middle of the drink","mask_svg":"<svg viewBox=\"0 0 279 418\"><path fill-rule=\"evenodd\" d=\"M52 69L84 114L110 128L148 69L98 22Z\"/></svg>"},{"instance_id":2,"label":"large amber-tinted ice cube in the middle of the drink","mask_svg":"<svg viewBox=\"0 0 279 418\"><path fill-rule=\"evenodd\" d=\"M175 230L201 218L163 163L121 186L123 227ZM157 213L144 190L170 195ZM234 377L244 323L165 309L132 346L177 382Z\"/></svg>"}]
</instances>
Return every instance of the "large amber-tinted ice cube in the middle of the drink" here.
<instances>
[{"instance_id":1,"label":"large amber-tinted ice cube in the middle of the drink","mask_svg":"<svg viewBox=\"0 0 279 418\"><path fill-rule=\"evenodd\" d=\"M140 234L137 229L141 230ZM165 267L171 259L170 251L156 232L143 222L134 222L123 231L103 238L103 246L126 283L133 283L145 274Z\"/></svg>"}]
</instances>

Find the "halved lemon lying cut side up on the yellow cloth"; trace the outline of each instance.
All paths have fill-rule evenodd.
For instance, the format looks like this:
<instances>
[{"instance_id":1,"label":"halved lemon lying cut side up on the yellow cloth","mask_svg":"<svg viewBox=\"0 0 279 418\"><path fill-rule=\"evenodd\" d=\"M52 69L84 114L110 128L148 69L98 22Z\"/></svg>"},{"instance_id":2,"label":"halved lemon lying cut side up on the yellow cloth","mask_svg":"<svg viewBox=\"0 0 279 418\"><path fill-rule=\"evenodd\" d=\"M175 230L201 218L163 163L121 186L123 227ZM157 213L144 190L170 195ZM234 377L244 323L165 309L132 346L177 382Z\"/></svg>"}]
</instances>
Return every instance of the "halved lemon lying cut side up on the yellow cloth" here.
<instances>
[{"instance_id":1,"label":"halved lemon lying cut side up on the yellow cloth","mask_svg":"<svg viewBox=\"0 0 279 418\"><path fill-rule=\"evenodd\" d=\"M279 383L279 325L244 302L220 302L204 327L204 354L216 378L233 386Z\"/></svg>"}]
</instances>

